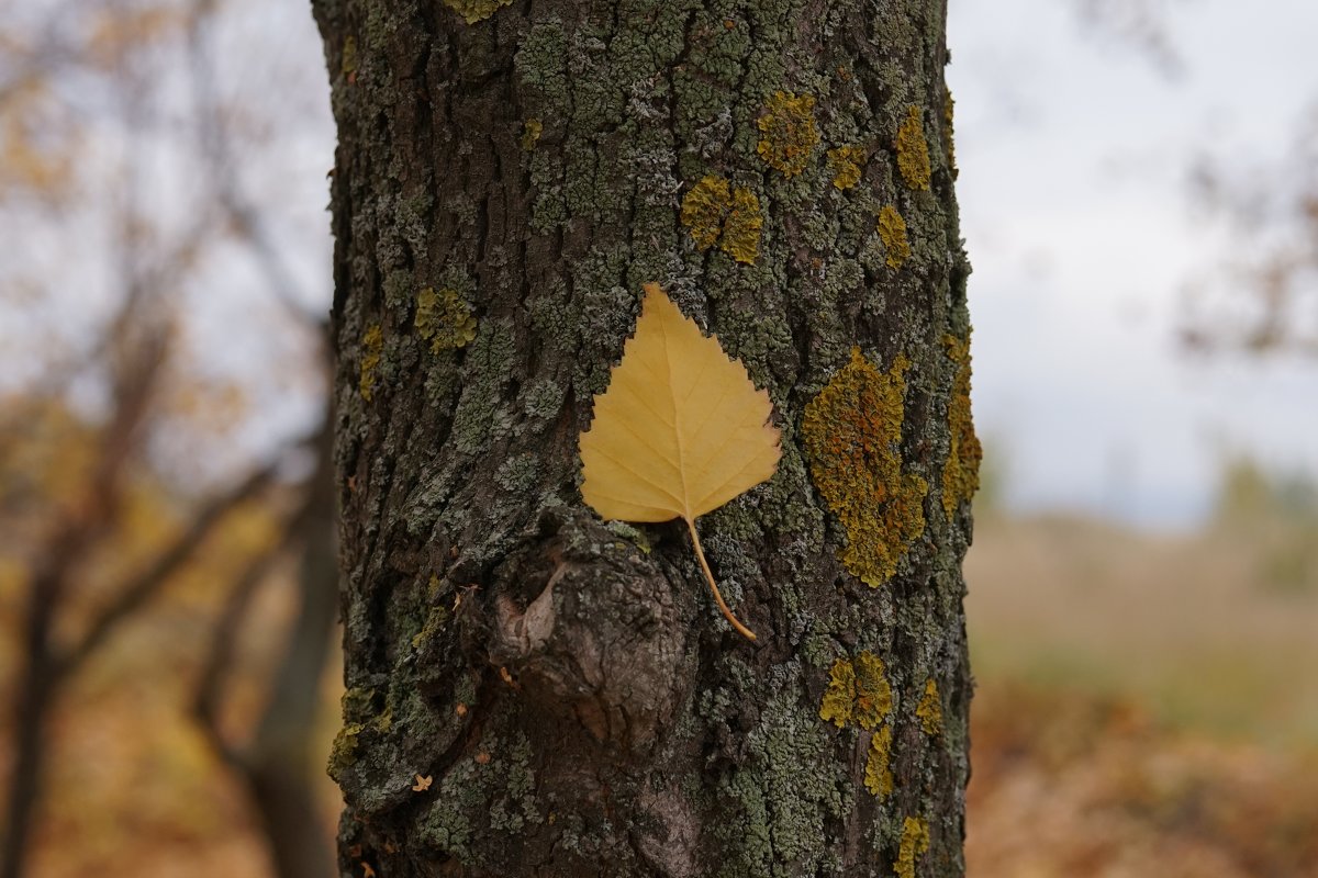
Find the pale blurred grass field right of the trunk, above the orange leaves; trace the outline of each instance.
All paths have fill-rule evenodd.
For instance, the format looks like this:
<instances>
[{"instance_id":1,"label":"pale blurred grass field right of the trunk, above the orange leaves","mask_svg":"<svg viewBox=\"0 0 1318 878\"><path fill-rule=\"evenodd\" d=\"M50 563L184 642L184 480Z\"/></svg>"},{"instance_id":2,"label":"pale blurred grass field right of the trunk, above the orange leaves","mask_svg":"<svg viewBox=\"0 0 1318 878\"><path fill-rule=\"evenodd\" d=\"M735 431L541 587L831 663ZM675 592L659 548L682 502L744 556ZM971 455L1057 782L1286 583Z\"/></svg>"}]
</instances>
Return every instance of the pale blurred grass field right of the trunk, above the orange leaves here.
<instances>
[{"instance_id":1,"label":"pale blurred grass field right of the trunk, above the orange leaves","mask_svg":"<svg viewBox=\"0 0 1318 878\"><path fill-rule=\"evenodd\" d=\"M1294 554L1305 540L985 517L966 561L975 675L1136 698L1180 729L1318 745L1318 566L1285 587L1268 575L1271 546Z\"/></svg>"}]
</instances>

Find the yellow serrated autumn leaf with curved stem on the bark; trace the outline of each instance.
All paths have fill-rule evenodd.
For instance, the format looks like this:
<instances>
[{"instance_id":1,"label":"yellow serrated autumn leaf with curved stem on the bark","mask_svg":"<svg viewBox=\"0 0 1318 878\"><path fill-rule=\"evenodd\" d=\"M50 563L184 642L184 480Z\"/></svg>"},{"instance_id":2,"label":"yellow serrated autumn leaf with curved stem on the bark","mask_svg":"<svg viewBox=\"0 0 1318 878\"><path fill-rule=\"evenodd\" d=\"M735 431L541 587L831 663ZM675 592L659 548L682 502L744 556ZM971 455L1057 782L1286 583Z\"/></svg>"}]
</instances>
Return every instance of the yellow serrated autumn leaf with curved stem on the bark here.
<instances>
[{"instance_id":1,"label":"yellow serrated autumn leaf with curved stem on the bark","mask_svg":"<svg viewBox=\"0 0 1318 878\"><path fill-rule=\"evenodd\" d=\"M581 433L581 496L604 519L684 520L718 608L755 640L718 594L696 519L774 475L774 405L659 284L645 290L637 332Z\"/></svg>"}]
</instances>

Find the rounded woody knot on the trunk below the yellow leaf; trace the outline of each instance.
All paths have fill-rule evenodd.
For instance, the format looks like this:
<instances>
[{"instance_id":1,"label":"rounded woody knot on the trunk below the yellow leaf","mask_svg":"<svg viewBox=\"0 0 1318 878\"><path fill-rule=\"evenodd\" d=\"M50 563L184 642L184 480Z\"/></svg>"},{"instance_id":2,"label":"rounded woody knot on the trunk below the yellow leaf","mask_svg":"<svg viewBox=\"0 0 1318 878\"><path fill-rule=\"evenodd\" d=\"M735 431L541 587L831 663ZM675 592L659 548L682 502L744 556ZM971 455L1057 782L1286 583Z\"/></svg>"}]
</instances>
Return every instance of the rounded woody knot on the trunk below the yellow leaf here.
<instances>
[{"instance_id":1,"label":"rounded woody knot on the trunk below the yellow leaf","mask_svg":"<svg viewBox=\"0 0 1318 878\"><path fill-rule=\"evenodd\" d=\"M488 602L481 646L534 710L619 749L658 740L691 677L691 609L642 548L584 511L547 511Z\"/></svg>"}]
</instances>

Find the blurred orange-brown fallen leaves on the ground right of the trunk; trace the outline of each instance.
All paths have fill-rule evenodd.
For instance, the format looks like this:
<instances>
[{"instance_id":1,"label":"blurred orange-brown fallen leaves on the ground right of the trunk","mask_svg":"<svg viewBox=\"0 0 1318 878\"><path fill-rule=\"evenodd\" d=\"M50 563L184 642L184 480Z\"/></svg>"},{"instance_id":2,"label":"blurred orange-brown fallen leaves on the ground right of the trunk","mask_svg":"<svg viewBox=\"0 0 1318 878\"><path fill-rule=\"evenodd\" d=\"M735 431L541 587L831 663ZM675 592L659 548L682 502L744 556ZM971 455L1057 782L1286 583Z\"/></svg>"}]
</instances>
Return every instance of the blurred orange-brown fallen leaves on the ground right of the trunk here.
<instances>
[{"instance_id":1,"label":"blurred orange-brown fallen leaves on the ground right of the trunk","mask_svg":"<svg viewBox=\"0 0 1318 878\"><path fill-rule=\"evenodd\" d=\"M1311 878L1318 758L1152 721L1131 700L995 686L974 706L969 874Z\"/></svg>"}]
</instances>

